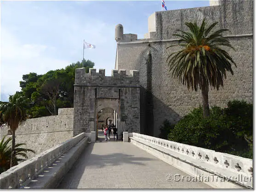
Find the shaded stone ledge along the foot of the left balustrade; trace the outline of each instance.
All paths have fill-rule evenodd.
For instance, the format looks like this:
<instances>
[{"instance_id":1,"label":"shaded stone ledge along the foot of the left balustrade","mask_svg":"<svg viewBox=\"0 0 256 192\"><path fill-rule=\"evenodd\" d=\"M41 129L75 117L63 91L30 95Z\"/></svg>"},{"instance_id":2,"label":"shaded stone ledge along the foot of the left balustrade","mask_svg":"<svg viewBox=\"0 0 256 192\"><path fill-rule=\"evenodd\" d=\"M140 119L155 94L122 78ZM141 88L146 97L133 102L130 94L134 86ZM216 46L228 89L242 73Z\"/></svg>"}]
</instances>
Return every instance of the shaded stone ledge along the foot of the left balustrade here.
<instances>
[{"instance_id":1,"label":"shaded stone ledge along the foot of the left balustrade","mask_svg":"<svg viewBox=\"0 0 256 192\"><path fill-rule=\"evenodd\" d=\"M26 189L51 189L56 188L62 181L63 176L72 168L75 161L87 145L88 137L83 138L78 144L71 148L68 153L46 167L39 176L34 178Z\"/></svg>"}]
</instances>

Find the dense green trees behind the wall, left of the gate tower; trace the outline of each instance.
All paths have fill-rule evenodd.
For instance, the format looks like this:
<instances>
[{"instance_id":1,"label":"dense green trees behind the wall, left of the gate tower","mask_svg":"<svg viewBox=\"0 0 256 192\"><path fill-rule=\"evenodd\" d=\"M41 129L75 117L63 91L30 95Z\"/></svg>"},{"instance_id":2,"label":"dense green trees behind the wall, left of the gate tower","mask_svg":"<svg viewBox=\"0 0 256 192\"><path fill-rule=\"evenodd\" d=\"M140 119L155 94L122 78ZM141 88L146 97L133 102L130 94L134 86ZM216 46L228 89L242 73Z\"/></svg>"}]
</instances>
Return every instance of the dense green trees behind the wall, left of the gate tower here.
<instances>
[{"instance_id":1,"label":"dense green trees behind the wall, left of the gate tower","mask_svg":"<svg viewBox=\"0 0 256 192\"><path fill-rule=\"evenodd\" d=\"M43 75L29 73L23 75L20 82L22 94L30 99L31 108L28 111L30 118L57 115L58 108L74 106L74 79L75 69L94 66L91 60L72 63L64 69L48 71Z\"/></svg>"}]
</instances>

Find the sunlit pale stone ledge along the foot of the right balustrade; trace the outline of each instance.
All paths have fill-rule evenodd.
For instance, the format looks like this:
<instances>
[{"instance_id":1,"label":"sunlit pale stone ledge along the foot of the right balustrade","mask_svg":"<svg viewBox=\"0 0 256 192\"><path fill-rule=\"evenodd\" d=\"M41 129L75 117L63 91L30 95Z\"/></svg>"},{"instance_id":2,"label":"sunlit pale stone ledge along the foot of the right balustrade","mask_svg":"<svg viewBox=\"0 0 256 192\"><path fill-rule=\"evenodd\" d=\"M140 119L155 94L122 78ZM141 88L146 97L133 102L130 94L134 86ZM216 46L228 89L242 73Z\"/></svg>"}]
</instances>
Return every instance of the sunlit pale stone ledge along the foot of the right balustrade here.
<instances>
[{"instance_id":1,"label":"sunlit pale stone ledge along the foot of the right balustrade","mask_svg":"<svg viewBox=\"0 0 256 192\"><path fill-rule=\"evenodd\" d=\"M142 141L135 137L130 137L131 143L136 145L139 148L147 151L150 154L153 154L155 157L165 161L166 163L177 167L178 169L192 175L192 176L209 176L214 178L214 181L205 182L207 185L214 188L252 188L251 186L243 185L237 181L227 181L220 182L220 177L232 178L232 176L238 176L236 173L233 173L229 170L223 170L215 165L209 165L205 162L199 162L197 159L189 158L187 155L183 155L176 151L170 151L166 148L154 145L152 143ZM224 174L223 174L224 172ZM219 178L216 182L215 180Z\"/></svg>"}]
</instances>

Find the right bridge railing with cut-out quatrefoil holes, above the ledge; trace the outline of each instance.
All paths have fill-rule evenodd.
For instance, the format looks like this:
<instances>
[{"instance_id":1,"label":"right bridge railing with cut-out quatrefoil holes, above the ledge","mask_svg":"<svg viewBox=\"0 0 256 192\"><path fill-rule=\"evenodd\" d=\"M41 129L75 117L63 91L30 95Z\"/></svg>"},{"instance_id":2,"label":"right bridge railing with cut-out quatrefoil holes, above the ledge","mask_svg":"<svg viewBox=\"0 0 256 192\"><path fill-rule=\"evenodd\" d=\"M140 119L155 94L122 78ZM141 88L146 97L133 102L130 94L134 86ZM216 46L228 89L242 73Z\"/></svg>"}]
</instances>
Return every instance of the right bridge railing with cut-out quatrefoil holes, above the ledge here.
<instances>
[{"instance_id":1,"label":"right bridge railing with cut-out quatrefoil holes, above the ledge","mask_svg":"<svg viewBox=\"0 0 256 192\"><path fill-rule=\"evenodd\" d=\"M132 133L131 138L135 138L138 141L145 141L156 146L159 146L161 148L168 149L170 152L173 151L178 154L181 154L181 156L184 157L186 161L189 161L189 159L195 159L196 161L193 162L204 162L203 166L205 169L208 169L208 167L205 166L207 164L214 165L215 168L220 168L218 169L221 170L220 175L222 175L223 171L230 171L237 175L246 176L249 179L252 178L253 175L252 159L216 152L210 149L195 147L183 143L177 143L174 141L165 140L157 137L151 137L148 135L143 135L135 132ZM241 181L240 183L246 184L247 186L252 186L252 181Z\"/></svg>"}]
</instances>

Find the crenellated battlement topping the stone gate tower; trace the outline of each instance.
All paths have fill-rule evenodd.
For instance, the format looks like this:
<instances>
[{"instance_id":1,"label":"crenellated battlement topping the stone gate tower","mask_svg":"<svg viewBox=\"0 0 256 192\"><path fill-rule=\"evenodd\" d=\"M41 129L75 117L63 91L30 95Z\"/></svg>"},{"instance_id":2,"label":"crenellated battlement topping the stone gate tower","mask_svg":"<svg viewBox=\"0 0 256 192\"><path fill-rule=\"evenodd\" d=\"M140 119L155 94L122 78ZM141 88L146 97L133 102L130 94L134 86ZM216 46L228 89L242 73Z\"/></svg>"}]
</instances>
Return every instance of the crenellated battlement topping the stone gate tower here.
<instances>
[{"instance_id":1,"label":"crenellated battlement topping the stone gate tower","mask_svg":"<svg viewBox=\"0 0 256 192\"><path fill-rule=\"evenodd\" d=\"M85 68L78 68L75 72L75 85L131 85L139 86L140 73L137 70L112 70L111 76L105 76L105 69L90 68L89 73L85 73Z\"/></svg>"}]
</instances>

